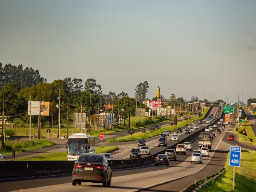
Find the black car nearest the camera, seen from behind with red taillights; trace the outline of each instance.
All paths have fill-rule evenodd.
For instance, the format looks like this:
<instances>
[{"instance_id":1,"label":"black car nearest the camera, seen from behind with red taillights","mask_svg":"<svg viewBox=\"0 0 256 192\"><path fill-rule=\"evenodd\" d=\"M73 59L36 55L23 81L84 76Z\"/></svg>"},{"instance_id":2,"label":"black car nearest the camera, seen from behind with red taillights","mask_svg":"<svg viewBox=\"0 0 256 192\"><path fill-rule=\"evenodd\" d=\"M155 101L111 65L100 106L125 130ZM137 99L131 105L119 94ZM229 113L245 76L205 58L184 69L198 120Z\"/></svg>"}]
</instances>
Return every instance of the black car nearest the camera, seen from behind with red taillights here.
<instances>
[{"instance_id":1,"label":"black car nearest the camera, seen from behind with red taillights","mask_svg":"<svg viewBox=\"0 0 256 192\"><path fill-rule=\"evenodd\" d=\"M79 156L72 171L72 185L82 182L102 183L110 187L112 170L102 154L83 153Z\"/></svg>"}]
</instances>

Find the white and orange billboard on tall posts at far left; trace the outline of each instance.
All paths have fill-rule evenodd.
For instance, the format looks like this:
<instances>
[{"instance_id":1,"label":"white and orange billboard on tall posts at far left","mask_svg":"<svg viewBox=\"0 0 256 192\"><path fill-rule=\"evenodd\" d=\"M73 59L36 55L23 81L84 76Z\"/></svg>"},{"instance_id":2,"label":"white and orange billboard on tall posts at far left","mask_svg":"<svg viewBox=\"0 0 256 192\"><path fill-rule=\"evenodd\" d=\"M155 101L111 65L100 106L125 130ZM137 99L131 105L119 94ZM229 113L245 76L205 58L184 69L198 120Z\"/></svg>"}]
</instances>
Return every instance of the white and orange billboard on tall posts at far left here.
<instances>
[{"instance_id":1,"label":"white and orange billboard on tall posts at far left","mask_svg":"<svg viewBox=\"0 0 256 192\"><path fill-rule=\"evenodd\" d=\"M49 116L50 113L50 102L41 101L41 106L39 106L39 101L31 101L31 115L39 115L39 108L41 110L40 115ZM30 114L30 101L28 102L28 114Z\"/></svg>"}]
</instances>

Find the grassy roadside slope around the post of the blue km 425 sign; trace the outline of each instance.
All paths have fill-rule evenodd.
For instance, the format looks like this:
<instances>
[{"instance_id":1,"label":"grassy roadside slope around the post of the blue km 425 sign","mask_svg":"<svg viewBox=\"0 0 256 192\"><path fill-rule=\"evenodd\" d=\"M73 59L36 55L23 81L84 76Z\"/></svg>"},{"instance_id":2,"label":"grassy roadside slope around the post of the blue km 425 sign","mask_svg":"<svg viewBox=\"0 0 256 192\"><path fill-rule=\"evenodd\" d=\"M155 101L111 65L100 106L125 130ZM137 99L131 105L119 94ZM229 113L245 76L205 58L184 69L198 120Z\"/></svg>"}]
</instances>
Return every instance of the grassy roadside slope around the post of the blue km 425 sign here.
<instances>
[{"instance_id":1,"label":"grassy roadside slope around the post of the blue km 425 sign","mask_svg":"<svg viewBox=\"0 0 256 192\"><path fill-rule=\"evenodd\" d=\"M203 192L252 192L256 188L256 152L242 149L240 167L235 168L235 187L233 169L229 166L229 154L226 160L226 171L215 181L205 186Z\"/></svg>"}]
</instances>

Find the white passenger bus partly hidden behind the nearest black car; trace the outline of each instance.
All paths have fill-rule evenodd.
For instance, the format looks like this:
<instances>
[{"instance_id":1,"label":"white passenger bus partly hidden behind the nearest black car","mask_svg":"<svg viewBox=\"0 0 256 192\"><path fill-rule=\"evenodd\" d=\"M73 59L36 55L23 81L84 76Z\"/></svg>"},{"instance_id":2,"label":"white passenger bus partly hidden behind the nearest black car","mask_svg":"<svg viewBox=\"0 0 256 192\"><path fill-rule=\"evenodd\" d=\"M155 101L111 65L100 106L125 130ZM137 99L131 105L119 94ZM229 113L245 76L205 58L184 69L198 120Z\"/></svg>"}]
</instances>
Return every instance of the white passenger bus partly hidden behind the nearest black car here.
<instances>
[{"instance_id":1,"label":"white passenger bus partly hidden behind the nearest black car","mask_svg":"<svg viewBox=\"0 0 256 192\"><path fill-rule=\"evenodd\" d=\"M75 133L68 137L66 148L68 161L76 161L82 153L95 152L95 137L85 133Z\"/></svg>"}]
</instances>

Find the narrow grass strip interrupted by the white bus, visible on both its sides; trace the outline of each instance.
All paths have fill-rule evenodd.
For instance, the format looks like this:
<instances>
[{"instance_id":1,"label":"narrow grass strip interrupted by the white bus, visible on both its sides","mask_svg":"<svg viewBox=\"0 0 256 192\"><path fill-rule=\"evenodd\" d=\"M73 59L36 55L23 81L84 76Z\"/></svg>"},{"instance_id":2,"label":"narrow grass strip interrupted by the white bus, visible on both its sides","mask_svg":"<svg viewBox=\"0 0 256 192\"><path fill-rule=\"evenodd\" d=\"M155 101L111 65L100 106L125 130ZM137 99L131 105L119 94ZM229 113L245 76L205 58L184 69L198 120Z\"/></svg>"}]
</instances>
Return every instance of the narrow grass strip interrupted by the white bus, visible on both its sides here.
<instances>
[{"instance_id":1,"label":"narrow grass strip interrupted by the white bus, visible on both its sides","mask_svg":"<svg viewBox=\"0 0 256 192\"><path fill-rule=\"evenodd\" d=\"M116 149L119 149L118 146L103 146L96 148L96 153L109 153ZM35 156L31 158L19 158L19 161L66 161L67 152L58 152L50 153L46 155Z\"/></svg>"}]
</instances>

